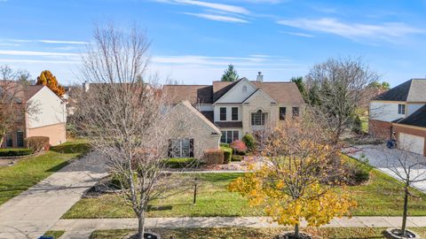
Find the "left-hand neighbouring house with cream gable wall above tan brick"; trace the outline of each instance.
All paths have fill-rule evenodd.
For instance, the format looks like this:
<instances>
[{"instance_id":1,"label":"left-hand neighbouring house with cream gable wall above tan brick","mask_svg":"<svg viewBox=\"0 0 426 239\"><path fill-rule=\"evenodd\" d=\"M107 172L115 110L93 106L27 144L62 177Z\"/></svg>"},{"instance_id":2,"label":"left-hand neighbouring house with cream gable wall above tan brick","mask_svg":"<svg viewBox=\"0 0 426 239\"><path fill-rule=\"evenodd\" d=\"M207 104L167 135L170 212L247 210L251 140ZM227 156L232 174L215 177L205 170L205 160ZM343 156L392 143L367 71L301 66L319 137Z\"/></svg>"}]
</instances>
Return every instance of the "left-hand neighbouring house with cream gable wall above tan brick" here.
<instances>
[{"instance_id":1,"label":"left-hand neighbouring house with cream gable wall above tan brick","mask_svg":"<svg viewBox=\"0 0 426 239\"><path fill-rule=\"evenodd\" d=\"M67 141L65 104L51 89L43 85L25 86L16 97L19 102L33 105L36 111L26 112L22 120L16 122L0 148L24 147L24 139L31 136L48 136L51 145Z\"/></svg>"}]
</instances>

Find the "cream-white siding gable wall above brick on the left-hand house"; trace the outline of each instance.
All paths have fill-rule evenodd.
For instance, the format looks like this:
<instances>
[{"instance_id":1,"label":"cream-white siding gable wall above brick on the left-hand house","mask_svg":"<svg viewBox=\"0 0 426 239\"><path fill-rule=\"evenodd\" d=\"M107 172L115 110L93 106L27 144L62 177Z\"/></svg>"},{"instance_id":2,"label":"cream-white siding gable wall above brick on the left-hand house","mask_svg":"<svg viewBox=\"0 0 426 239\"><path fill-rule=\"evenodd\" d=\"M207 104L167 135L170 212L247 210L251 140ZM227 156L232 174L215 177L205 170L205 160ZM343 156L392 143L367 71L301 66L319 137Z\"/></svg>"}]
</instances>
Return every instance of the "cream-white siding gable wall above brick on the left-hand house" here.
<instances>
[{"instance_id":1,"label":"cream-white siding gable wall above brick on the left-hand house","mask_svg":"<svg viewBox=\"0 0 426 239\"><path fill-rule=\"evenodd\" d=\"M36 112L28 115L28 128L56 125L67 120L65 104L47 87L37 92L28 104L36 107Z\"/></svg>"}]
</instances>

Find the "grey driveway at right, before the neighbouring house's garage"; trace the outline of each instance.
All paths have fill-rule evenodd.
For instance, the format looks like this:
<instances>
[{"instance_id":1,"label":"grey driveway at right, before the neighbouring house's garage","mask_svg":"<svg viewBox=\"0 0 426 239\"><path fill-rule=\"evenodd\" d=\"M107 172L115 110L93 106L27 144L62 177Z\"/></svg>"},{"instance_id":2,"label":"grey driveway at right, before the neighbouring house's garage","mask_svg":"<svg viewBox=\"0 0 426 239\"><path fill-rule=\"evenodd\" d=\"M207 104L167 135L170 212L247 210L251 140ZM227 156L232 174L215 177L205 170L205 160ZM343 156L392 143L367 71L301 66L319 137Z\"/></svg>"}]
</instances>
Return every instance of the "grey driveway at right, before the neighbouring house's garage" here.
<instances>
[{"instance_id":1,"label":"grey driveway at right, before the neighbouring house's garage","mask_svg":"<svg viewBox=\"0 0 426 239\"><path fill-rule=\"evenodd\" d=\"M426 193L426 157L405 150L388 149L384 145L357 145L343 150L353 158L367 159L383 173L399 180L398 174L405 175L404 168L412 166L408 173L411 179L423 180L414 182L414 188Z\"/></svg>"}]
</instances>

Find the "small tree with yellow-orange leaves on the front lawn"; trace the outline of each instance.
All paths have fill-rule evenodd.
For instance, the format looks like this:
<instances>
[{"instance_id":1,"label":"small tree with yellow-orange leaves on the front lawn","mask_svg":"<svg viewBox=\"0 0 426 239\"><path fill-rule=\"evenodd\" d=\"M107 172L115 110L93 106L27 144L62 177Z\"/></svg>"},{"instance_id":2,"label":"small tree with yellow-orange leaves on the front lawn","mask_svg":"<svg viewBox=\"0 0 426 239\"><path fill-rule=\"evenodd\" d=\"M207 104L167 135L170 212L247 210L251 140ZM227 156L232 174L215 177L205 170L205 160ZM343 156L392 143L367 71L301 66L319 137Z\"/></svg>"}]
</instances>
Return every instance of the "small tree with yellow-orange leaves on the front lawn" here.
<instances>
[{"instance_id":1,"label":"small tree with yellow-orange leaves on the front lawn","mask_svg":"<svg viewBox=\"0 0 426 239\"><path fill-rule=\"evenodd\" d=\"M342 166L331 134L312 117L288 120L276 127L260 149L264 164L231 182L228 189L248 197L251 205L260 205L264 212L280 225L319 227L335 217L350 215L356 202L340 190L336 173ZM333 180L331 180L333 179Z\"/></svg>"}]
</instances>

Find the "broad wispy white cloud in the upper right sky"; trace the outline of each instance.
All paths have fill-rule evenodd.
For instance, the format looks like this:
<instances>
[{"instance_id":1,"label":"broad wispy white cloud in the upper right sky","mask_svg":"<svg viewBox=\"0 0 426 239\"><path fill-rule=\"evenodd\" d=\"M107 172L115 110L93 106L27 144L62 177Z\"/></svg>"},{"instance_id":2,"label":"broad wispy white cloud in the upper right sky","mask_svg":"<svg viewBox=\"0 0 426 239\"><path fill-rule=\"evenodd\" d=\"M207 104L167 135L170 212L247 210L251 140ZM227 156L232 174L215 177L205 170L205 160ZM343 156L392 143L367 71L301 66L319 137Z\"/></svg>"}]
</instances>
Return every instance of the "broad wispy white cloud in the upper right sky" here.
<instances>
[{"instance_id":1,"label":"broad wispy white cloud in the upper right sky","mask_svg":"<svg viewBox=\"0 0 426 239\"><path fill-rule=\"evenodd\" d=\"M340 35L352 40L359 38L379 38L392 41L392 38L405 35L424 34L425 30L407 26L400 22L388 22L379 25L344 23L338 19L287 19L278 21L288 27L296 27L308 31L317 31Z\"/></svg>"}]
</instances>

